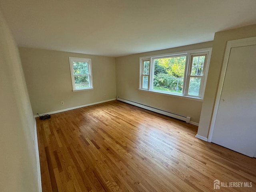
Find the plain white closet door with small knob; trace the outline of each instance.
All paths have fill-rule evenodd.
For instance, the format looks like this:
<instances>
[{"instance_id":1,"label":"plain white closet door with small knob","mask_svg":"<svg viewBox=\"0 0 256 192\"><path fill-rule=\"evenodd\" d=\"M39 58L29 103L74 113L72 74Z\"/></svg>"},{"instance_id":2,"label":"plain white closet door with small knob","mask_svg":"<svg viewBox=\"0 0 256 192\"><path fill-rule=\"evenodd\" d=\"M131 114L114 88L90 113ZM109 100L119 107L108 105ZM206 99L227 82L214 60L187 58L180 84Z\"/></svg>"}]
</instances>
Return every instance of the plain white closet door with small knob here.
<instances>
[{"instance_id":1,"label":"plain white closet door with small knob","mask_svg":"<svg viewBox=\"0 0 256 192\"><path fill-rule=\"evenodd\" d=\"M256 45L231 48L212 142L255 156Z\"/></svg>"}]
</instances>

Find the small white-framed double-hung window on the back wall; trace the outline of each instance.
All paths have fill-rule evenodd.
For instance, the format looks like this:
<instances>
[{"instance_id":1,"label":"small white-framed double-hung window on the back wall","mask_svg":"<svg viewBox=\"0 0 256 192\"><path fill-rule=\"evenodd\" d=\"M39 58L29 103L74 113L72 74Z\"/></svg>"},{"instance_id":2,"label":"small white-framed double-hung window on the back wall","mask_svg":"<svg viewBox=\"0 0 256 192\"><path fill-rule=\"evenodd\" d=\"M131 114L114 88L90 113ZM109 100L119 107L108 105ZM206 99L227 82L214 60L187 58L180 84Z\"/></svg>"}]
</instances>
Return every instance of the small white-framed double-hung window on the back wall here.
<instances>
[{"instance_id":1,"label":"small white-framed double-hung window on the back wall","mask_svg":"<svg viewBox=\"0 0 256 192\"><path fill-rule=\"evenodd\" d=\"M69 57L69 63L73 91L93 89L91 59Z\"/></svg>"}]
</instances>

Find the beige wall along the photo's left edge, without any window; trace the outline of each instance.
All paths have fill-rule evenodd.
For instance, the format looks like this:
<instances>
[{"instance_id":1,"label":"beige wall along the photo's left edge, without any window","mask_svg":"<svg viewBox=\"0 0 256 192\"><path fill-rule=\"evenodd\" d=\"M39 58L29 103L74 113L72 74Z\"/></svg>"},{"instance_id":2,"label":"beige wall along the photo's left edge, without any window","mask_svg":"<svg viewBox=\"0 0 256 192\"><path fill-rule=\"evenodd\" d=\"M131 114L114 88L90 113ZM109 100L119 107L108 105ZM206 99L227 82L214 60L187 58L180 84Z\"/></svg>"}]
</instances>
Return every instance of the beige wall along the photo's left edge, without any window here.
<instances>
[{"instance_id":1,"label":"beige wall along the photo's left edge, without any window","mask_svg":"<svg viewBox=\"0 0 256 192\"><path fill-rule=\"evenodd\" d=\"M35 124L18 48L0 13L0 191L40 191Z\"/></svg>"}]
</instances>

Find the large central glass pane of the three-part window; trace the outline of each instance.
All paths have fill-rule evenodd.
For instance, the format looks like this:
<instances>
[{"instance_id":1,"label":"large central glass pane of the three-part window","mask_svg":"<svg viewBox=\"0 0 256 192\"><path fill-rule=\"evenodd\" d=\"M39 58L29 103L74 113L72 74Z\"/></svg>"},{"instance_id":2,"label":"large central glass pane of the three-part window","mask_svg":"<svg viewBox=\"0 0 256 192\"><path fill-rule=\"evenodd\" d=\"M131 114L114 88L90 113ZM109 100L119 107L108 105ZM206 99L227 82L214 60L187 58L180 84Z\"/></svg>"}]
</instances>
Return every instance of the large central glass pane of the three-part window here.
<instances>
[{"instance_id":1,"label":"large central glass pane of the three-part window","mask_svg":"<svg viewBox=\"0 0 256 192\"><path fill-rule=\"evenodd\" d=\"M186 56L154 59L153 90L182 94Z\"/></svg>"}]
</instances>

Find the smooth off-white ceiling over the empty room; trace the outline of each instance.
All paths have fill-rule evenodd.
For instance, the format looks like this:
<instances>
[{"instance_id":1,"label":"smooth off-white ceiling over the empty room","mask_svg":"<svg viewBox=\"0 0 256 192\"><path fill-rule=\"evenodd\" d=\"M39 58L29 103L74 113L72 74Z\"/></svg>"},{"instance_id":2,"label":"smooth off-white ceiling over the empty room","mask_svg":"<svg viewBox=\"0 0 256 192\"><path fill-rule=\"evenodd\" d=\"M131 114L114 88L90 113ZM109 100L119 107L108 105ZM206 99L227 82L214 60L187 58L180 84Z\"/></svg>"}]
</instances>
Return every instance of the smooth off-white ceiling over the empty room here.
<instances>
[{"instance_id":1,"label":"smooth off-white ceiling over the empty room","mask_svg":"<svg viewBox=\"0 0 256 192\"><path fill-rule=\"evenodd\" d=\"M18 46L123 56L256 24L256 0L0 0Z\"/></svg>"}]
</instances>

